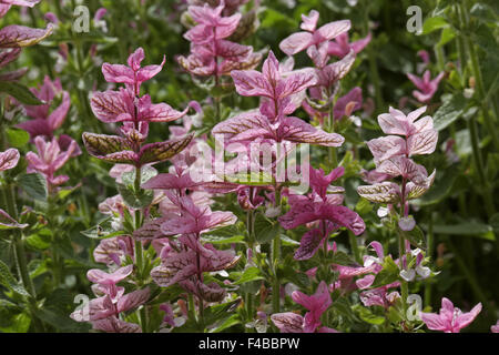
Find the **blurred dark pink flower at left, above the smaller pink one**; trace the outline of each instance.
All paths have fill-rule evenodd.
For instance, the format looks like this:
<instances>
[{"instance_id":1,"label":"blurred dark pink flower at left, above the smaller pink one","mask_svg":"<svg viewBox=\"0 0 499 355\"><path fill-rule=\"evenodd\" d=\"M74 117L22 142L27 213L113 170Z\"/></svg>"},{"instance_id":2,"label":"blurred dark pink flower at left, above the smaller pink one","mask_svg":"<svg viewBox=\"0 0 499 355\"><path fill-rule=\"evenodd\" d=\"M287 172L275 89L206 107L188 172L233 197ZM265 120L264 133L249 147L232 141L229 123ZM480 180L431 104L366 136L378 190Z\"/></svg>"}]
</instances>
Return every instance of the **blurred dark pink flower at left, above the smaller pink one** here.
<instances>
[{"instance_id":1,"label":"blurred dark pink flower at left, above the smaller pink one","mask_svg":"<svg viewBox=\"0 0 499 355\"><path fill-rule=\"evenodd\" d=\"M33 120L22 122L17 126L30 133L31 139L38 135L52 138L54 131L64 122L70 109L70 95L62 90L60 79L51 81L49 77L43 80L43 85L39 89L31 89L31 92L41 101L41 105L24 105L27 115ZM61 104L50 112L51 103L57 97L61 97Z\"/></svg>"}]
</instances>

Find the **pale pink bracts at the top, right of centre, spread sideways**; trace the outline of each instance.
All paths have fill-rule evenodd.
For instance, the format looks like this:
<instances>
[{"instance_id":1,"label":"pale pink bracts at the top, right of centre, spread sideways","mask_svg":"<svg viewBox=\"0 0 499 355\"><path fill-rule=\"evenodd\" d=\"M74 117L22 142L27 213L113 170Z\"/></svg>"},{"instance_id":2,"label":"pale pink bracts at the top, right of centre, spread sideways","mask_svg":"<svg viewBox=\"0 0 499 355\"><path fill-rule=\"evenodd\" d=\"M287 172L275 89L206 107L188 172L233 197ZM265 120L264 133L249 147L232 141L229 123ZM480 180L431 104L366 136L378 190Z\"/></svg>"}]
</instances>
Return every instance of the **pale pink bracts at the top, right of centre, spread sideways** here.
<instances>
[{"instance_id":1,"label":"pale pink bracts at the top, right of centre, spread sideways","mask_svg":"<svg viewBox=\"0 0 499 355\"><path fill-rule=\"evenodd\" d=\"M302 14L303 22L301 27L305 31L293 33L284 39L279 44L281 50L287 55L294 55L312 45L318 47L333 40L339 34L347 32L352 26L349 20L340 20L326 23L317 29L318 17L319 13L316 10L312 10L308 17Z\"/></svg>"}]
</instances>

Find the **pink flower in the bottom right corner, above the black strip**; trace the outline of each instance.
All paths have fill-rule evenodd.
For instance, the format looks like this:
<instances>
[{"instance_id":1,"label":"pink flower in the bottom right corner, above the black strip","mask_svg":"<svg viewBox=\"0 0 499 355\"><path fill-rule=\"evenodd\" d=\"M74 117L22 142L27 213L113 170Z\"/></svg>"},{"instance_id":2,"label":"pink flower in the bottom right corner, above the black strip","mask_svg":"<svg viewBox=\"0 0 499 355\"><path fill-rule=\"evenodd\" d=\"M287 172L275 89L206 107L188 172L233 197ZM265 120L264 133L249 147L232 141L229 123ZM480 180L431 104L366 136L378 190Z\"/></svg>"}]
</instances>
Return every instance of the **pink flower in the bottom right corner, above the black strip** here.
<instances>
[{"instance_id":1,"label":"pink flower in the bottom right corner, above the black strip","mask_svg":"<svg viewBox=\"0 0 499 355\"><path fill-rule=\"evenodd\" d=\"M431 331L445 333L459 333L460 329L467 327L481 311L481 303L477 304L470 312L464 313L454 306L450 300L441 298L440 313L421 312L421 321Z\"/></svg>"}]
</instances>

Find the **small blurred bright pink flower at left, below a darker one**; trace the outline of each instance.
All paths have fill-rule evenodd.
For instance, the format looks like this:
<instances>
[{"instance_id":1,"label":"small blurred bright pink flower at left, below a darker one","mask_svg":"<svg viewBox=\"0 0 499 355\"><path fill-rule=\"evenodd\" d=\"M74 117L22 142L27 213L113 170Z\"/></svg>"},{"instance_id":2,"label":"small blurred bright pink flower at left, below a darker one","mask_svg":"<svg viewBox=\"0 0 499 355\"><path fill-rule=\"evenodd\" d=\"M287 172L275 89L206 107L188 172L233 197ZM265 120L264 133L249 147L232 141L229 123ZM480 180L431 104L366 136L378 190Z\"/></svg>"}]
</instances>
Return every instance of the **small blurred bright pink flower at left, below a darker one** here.
<instances>
[{"instance_id":1,"label":"small blurred bright pink flower at left, below a darker one","mask_svg":"<svg viewBox=\"0 0 499 355\"><path fill-rule=\"evenodd\" d=\"M60 142L53 138L47 142L43 138L37 136L34 144L38 154L28 152L26 159L29 162L28 172L39 172L47 179L49 191L54 186L61 185L69 180L68 175L55 176L55 172L61 169L75 152L79 152L78 143L70 141L65 150L61 148Z\"/></svg>"}]
</instances>

